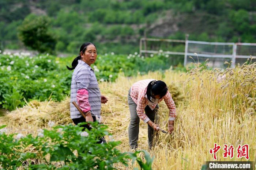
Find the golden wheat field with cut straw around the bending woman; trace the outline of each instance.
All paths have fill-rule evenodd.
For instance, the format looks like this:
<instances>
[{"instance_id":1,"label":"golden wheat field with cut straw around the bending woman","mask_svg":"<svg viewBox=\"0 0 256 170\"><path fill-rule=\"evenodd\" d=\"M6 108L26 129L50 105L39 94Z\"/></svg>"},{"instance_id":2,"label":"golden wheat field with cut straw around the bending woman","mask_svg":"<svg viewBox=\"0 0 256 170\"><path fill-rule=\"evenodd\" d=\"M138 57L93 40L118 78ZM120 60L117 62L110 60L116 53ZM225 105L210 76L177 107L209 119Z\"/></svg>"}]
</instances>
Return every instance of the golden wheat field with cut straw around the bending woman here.
<instances>
[{"instance_id":1,"label":"golden wheat field with cut straw around the bending woman","mask_svg":"<svg viewBox=\"0 0 256 170\"><path fill-rule=\"evenodd\" d=\"M179 104L173 134L158 133L155 141L157 145L149 151L155 157L153 169L200 169L204 161L213 160L209 150L214 147L214 143L222 148L224 144L232 144L235 148L233 159L223 158L222 151L219 151L218 161L245 161L245 158L236 158L235 150L238 144L249 144L249 160L255 161L255 67L256 64L252 64L226 69L223 72L202 70L203 68L197 67L183 75L169 70L166 71L165 76L155 72L135 78L120 76L116 82L103 82L100 84L101 92L109 98L108 103L102 105L103 123L109 126L114 140L122 141L118 149L130 151L128 90L136 81L155 78L165 81L169 89L172 89L170 85L174 83L179 87L181 94L177 93L179 95L176 100L180 98L180 101L176 102ZM159 124L166 130L168 109L164 102L159 106L161 108L158 114ZM37 128L49 128L48 121L58 124L71 122L68 98L61 103L32 102L0 118L0 124L7 124L12 129L10 133L25 129L27 130L25 134L36 133ZM148 150L147 126L142 121L140 125L139 149ZM116 165L116 167L132 169L133 166Z\"/></svg>"}]
</instances>

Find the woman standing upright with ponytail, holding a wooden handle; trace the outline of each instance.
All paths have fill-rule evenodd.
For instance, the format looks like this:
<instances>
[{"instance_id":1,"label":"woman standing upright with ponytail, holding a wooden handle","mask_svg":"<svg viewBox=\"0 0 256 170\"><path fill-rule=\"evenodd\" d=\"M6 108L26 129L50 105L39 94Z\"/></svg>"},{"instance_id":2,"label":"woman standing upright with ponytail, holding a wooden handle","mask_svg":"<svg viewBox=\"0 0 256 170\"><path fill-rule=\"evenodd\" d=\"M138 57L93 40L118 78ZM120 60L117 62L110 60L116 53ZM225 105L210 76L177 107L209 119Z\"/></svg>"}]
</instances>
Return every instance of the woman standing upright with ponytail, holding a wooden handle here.
<instances>
[{"instance_id":1,"label":"woman standing upright with ponytail, holding a wooden handle","mask_svg":"<svg viewBox=\"0 0 256 170\"><path fill-rule=\"evenodd\" d=\"M67 66L69 70L74 70L70 91L70 117L76 125L100 119L101 103L108 101L105 96L101 96L94 70L91 68L96 59L96 46L87 42L80 47L80 55L74 59L72 67ZM73 101L84 112L86 119L72 104ZM83 126L90 130L89 125Z\"/></svg>"}]
</instances>

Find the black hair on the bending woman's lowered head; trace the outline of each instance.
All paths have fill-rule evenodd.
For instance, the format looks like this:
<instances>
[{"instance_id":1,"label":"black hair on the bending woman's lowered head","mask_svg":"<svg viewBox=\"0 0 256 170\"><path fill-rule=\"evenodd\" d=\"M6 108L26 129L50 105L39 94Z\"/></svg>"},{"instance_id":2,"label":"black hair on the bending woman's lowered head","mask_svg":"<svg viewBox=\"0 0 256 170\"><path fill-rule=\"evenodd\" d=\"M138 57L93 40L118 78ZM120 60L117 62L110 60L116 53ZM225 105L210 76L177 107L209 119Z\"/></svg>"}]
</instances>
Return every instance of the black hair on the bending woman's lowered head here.
<instances>
[{"instance_id":1,"label":"black hair on the bending woman's lowered head","mask_svg":"<svg viewBox=\"0 0 256 170\"><path fill-rule=\"evenodd\" d=\"M147 98L149 101L151 101L151 97L153 98L153 96L151 94L154 95L160 95L160 98L162 98L163 96L165 96L165 94L167 93L167 86L165 84L165 82L158 80L158 81L151 81L149 82L149 84L147 85ZM151 101L153 102L153 101Z\"/></svg>"}]
</instances>

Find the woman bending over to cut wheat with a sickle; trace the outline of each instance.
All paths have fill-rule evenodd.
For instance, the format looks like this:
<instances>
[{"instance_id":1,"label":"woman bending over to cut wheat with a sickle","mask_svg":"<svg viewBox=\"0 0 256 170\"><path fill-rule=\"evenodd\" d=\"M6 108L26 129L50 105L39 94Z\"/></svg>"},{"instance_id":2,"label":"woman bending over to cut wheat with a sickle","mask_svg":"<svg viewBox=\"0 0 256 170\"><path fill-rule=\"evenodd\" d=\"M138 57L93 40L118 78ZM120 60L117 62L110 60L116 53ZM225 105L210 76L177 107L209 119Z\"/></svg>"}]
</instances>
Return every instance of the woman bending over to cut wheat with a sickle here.
<instances>
[{"instance_id":1,"label":"woman bending over to cut wheat with a sickle","mask_svg":"<svg viewBox=\"0 0 256 170\"><path fill-rule=\"evenodd\" d=\"M154 130L158 131L158 124L154 123L155 115L158 111L158 103L165 101L169 108L170 118L168 122L169 134L173 131L174 120L176 117L176 108L168 88L163 81L146 79L135 82L128 92L128 104L131 114L129 124L129 145L131 148L138 147L139 122L140 119L148 124L148 145L152 147ZM145 111L145 113L144 113Z\"/></svg>"}]
</instances>

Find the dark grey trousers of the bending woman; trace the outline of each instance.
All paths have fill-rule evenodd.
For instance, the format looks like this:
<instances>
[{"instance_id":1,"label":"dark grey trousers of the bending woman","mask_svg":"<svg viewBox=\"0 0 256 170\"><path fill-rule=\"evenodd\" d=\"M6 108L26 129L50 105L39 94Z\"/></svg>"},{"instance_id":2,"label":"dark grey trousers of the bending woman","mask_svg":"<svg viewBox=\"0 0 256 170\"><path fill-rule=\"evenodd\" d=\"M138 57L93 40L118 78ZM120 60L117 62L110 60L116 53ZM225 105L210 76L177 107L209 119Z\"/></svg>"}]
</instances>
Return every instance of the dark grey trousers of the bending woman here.
<instances>
[{"instance_id":1,"label":"dark grey trousers of the bending woman","mask_svg":"<svg viewBox=\"0 0 256 170\"><path fill-rule=\"evenodd\" d=\"M130 95L131 89L128 92L128 104L129 104L129 110L130 110L130 115L131 115L131 121L129 124L128 128L128 137L129 137L129 145L131 148L137 148L138 147L138 139L139 139L139 123L140 123L140 118L137 114L137 105L135 102L132 100L131 95ZM155 121L155 115L157 114L158 110L158 105L155 107L154 110L151 110L150 107L145 108L145 113L147 117L151 121ZM148 146L151 149L152 147L152 142L154 138L154 129L150 127L150 125L147 126L148 130Z\"/></svg>"}]
</instances>

